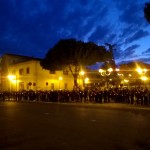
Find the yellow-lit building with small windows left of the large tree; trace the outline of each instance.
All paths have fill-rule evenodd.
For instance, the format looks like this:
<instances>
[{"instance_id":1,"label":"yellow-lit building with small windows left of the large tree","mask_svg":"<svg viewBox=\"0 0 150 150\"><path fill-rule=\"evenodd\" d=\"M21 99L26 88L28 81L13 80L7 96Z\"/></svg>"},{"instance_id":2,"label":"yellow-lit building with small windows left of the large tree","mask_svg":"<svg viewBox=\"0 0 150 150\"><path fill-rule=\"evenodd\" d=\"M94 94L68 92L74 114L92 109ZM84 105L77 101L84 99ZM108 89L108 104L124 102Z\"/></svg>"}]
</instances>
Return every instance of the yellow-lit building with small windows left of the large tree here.
<instances>
[{"instance_id":1,"label":"yellow-lit building with small windows left of the large tree","mask_svg":"<svg viewBox=\"0 0 150 150\"><path fill-rule=\"evenodd\" d=\"M68 70L45 70L38 58L5 54L0 66L2 91L73 89L74 79Z\"/></svg>"}]
</instances>

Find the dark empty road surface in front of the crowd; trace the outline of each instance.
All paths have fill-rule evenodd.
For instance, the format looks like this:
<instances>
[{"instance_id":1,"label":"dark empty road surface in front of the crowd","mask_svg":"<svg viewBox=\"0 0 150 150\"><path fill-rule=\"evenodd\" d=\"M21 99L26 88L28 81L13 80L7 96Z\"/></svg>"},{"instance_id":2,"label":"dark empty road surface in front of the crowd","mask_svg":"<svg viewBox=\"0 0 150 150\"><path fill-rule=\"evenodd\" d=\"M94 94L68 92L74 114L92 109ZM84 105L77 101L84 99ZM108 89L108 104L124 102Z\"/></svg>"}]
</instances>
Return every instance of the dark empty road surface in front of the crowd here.
<instances>
[{"instance_id":1,"label":"dark empty road surface in front of the crowd","mask_svg":"<svg viewBox=\"0 0 150 150\"><path fill-rule=\"evenodd\" d=\"M150 109L0 102L0 150L150 150Z\"/></svg>"}]
</instances>

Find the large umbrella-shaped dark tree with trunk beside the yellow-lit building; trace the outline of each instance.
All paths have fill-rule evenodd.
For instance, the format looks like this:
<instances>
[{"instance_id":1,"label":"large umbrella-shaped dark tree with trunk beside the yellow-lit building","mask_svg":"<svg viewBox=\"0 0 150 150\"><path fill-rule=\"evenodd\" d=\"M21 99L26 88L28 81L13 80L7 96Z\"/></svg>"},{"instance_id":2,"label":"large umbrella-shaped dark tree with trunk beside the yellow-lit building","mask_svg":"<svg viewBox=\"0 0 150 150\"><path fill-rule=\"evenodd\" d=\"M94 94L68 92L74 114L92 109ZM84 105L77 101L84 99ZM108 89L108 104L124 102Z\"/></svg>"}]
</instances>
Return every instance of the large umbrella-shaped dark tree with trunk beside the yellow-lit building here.
<instances>
[{"instance_id":1,"label":"large umbrella-shaped dark tree with trunk beside the yellow-lit building","mask_svg":"<svg viewBox=\"0 0 150 150\"><path fill-rule=\"evenodd\" d=\"M68 69L74 77L74 86L77 87L77 78L81 68L103 62L110 58L110 52L104 46L93 42L82 42L75 39L63 39L47 52L41 60L41 66L47 70Z\"/></svg>"}]
</instances>

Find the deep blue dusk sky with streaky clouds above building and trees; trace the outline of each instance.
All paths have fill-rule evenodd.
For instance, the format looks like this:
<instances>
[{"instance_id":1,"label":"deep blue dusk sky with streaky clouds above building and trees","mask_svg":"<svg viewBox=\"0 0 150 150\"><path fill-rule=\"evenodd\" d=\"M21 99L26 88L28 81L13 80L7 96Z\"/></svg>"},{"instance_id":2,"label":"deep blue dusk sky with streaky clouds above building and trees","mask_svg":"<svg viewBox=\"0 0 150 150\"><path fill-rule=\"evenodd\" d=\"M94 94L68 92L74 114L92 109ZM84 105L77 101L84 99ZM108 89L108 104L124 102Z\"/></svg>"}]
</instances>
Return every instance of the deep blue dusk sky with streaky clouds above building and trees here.
<instances>
[{"instance_id":1,"label":"deep blue dusk sky with streaky clouds above building and trees","mask_svg":"<svg viewBox=\"0 0 150 150\"><path fill-rule=\"evenodd\" d=\"M60 39L117 44L117 63L150 63L147 0L0 0L0 55L43 58Z\"/></svg>"}]
</instances>

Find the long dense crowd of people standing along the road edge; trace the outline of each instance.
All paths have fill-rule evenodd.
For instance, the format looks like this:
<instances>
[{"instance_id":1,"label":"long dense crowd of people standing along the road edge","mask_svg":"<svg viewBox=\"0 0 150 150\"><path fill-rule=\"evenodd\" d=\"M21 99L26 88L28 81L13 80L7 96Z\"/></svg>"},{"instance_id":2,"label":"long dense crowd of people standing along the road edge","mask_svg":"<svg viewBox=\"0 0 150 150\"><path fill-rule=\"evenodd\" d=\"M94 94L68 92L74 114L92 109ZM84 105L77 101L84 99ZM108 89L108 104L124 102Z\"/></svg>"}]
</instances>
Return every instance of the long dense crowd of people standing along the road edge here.
<instances>
[{"instance_id":1,"label":"long dense crowd of people standing along the road edge","mask_svg":"<svg viewBox=\"0 0 150 150\"><path fill-rule=\"evenodd\" d=\"M128 103L150 105L150 90L147 87L94 88L93 90L19 91L0 92L1 101L43 101L43 102L91 102Z\"/></svg>"}]
</instances>

